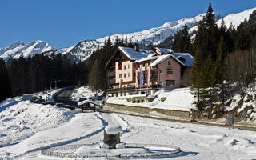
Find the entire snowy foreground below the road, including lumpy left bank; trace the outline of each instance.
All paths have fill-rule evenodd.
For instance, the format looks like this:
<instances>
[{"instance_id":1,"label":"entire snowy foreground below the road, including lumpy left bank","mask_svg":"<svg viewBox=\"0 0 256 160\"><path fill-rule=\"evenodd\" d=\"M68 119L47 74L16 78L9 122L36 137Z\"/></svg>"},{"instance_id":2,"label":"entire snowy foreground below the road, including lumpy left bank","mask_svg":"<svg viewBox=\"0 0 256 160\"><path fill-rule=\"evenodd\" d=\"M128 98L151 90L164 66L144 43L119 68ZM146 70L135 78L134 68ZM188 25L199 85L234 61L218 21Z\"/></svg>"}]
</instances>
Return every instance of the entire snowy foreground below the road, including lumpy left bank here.
<instances>
[{"instance_id":1,"label":"entire snowy foreground below the road, including lumpy left bank","mask_svg":"<svg viewBox=\"0 0 256 160\"><path fill-rule=\"evenodd\" d=\"M17 114L19 110L24 111ZM122 142L173 145L184 152L182 157L165 159L256 158L254 131L122 114L70 112L69 109L11 100L0 104L0 115L0 159L62 159L43 156L40 151L50 146L100 144L103 130L110 120L124 129Z\"/></svg>"}]
</instances>

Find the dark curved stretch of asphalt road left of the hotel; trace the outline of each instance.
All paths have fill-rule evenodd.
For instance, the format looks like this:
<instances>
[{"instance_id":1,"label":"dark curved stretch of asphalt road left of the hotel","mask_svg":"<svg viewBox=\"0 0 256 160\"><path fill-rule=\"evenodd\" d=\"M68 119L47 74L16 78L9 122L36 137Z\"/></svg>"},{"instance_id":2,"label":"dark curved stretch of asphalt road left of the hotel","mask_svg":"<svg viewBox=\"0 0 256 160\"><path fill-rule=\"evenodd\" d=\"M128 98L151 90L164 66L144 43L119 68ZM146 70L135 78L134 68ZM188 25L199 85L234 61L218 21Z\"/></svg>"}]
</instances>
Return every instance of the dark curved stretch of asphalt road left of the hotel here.
<instances>
[{"instance_id":1,"label":"dark curved stretch of asphalt road left of the hotel","mask_svg":"<svg viewBox=\"0 0 256 160\"><path fill-rule=\"evenodd\" d=\"M61 93L56 95L56 97L54 98L55 102L64 103L66 105L76 107L78 103L71 100L71 95L73 93L73 90L74 90L74 87L66 88Z\"/></svg>"}]
</instances>

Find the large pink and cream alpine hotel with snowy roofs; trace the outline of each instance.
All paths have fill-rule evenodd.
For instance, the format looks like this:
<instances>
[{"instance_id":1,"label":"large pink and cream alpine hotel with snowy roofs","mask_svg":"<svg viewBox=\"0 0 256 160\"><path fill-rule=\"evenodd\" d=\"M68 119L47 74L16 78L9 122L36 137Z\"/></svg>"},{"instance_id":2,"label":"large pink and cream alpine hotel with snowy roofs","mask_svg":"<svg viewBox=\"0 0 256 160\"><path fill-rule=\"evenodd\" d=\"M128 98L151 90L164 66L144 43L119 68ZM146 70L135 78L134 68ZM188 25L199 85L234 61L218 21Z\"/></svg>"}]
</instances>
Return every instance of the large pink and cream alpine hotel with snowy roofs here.
<instances>
[{"instance_id":1,"label":"large pink and cream alpine hotel with snowy roofs","mask_svg":"<svg viewBox=\"0 0 256 160\"><path fill-rule=\"evenodd\" d=\"M193 56L171 49L139 50L119 46L106 64L109 96L154 94L159 88L181 86L182 69L192 66Z\"/></svg>"}]
</instances>

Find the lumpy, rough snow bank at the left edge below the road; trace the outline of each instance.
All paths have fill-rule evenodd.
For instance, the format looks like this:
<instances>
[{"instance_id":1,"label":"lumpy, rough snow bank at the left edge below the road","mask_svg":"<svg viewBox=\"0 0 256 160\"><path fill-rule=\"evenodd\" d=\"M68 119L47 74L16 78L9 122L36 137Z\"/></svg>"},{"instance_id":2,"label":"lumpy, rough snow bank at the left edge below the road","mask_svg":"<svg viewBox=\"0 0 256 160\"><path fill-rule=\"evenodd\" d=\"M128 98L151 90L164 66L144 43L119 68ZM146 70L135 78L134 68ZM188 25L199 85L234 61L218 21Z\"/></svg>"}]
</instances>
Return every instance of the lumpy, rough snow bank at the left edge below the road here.
<instances>
[{"instance_id":1,"label":"lumpy, rough snow bank at the left edge below the road","mask_svg":"<svg viewBox=\"0 0 256 160\"><path fill-rule=\"evenodd\" d=\"M6 99L0 104L0 146L20 142L38 131L61 126L73 115L68 109Z\"/></svg>"}]
</instances>

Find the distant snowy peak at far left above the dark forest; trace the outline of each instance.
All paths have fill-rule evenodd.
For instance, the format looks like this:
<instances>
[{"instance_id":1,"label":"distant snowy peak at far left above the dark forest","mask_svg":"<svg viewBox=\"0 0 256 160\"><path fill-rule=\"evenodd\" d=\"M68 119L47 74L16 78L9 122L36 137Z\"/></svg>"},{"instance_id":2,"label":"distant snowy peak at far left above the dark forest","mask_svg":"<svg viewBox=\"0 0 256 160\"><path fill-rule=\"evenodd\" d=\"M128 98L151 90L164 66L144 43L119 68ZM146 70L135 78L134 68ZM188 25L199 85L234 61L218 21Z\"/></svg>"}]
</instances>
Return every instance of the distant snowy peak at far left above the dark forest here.
<instances>
[{"instance_id":1,"label":"distant snowy peak at far left above the dark forest","mask_svg":"<svg viewBox=\"0 0 256 160\"><path fill-rule=\"evenodd\" d=\"M21 54L24 57L28 57L29 55L33 56L34 54L41 54L49 50L53 50L53 48L47 42L40 40L29 44L15 42L4 49L0 49L0 58L4 58L5 60L10 58L10 56L19 58Z\"/></svg>"}]
</instances>

